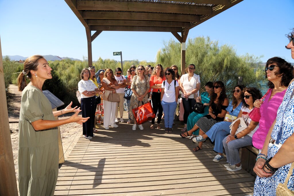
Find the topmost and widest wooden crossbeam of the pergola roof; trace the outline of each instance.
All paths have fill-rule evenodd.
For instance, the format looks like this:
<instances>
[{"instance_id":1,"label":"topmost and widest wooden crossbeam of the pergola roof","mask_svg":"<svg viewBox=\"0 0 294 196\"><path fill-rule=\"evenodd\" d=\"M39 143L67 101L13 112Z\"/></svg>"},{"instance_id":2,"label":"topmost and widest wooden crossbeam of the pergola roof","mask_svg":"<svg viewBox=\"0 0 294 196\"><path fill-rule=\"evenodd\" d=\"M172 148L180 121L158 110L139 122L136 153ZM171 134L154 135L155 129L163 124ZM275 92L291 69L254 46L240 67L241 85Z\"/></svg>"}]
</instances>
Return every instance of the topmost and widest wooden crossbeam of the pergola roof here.
<instances>
[{"instance_id":1,"label":"topmost and widest wooden crossbeam of the pergola roof","mask_svg":"<svg viewBox=\"0 0 294 196\"><path fill-rule=\"evenodd\" d=\"M165 4L150 2L120 2L120 1L77 1L78 10L107 10L107 11L143 11L165 12L180 14L212 14L210 6L196 6L184 4Z\"/></svg>"}]
</instances>

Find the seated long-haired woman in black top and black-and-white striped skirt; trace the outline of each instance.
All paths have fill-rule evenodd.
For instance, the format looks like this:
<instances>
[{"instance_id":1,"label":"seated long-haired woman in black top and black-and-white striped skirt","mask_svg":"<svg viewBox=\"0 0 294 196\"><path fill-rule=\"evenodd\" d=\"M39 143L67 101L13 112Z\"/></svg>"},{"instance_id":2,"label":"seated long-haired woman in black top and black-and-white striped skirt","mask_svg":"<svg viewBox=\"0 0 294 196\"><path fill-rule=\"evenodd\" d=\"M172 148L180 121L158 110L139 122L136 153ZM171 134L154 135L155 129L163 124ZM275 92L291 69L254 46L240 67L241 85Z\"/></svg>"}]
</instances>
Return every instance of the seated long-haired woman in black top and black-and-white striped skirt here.
<instances>
[{"instance_id":1,"label":"seated long-haired woman in black top and black-and-white striped skirt","mask_svg":"<svg viewBox=\"0 0 294 196\"><path fill-rule=\"evenodd\" d=\"M214 93L211 95L209 102L208 115L199 118L191 130L181 133L181 137L185 138L191 136L194 131L200 129L203 133L206 133L214 124L223 121L229 105L229 100L225 94L225 86L222 81L217 81L213 84ZM202 142L199 143L193 151L202 149Z\"/></svg>"}]
</instances>

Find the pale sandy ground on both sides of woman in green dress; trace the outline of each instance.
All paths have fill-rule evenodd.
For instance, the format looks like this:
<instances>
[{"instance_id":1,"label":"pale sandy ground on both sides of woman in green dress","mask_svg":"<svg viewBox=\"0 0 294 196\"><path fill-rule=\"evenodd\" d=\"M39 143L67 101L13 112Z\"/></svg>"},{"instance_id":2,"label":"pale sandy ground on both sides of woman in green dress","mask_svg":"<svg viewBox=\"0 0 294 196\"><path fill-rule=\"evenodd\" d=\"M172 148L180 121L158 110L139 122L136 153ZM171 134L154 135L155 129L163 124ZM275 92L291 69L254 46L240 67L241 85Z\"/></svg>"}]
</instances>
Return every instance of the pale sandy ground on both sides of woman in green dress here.
<instances>
[{"instance_id":1,"label":"pale sandy ground on both sides of woman in green dress","mask_svg":"<svg viewBox=\"0 0 294 196\"><path fill-rule=\"evenodd\" d=\"M18 160L17 160L17 151L18 151L18 119L19 119L19 110L20 110L20 98L21 92L17 91L16 86L9 86L9 93L11 93L11 102L13 105L8 109L9 114L9 127L11 133L11 143L12 151L14 158L14 167L16 173L16 180L18 179ZM69 115L68 115L69 116ZM67 118L67 116L65 115ZM62 117L64 118L64 117ZM62 119L60 118L60 119ZM60 134L62 140L62 146L64 151L64 158L66 160L67 156L71 152L72 148L76 145L78 139L83 133L82 125L77 123L69 123L66 125L60 126Z\"/></svg>"}]
</instances>

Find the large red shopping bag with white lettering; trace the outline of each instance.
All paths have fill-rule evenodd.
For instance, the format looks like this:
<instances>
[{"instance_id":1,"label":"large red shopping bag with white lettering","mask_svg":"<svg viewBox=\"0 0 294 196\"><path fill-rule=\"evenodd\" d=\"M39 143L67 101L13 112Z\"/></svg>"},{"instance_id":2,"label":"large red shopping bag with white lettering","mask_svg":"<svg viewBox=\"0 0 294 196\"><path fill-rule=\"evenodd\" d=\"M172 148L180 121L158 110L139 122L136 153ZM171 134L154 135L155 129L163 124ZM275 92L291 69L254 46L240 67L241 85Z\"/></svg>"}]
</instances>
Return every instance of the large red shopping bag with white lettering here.
<instances>
[{"instance_id":1,"label":"large red shopping bag with white lettering","mask_svg":"<svg viewBox=\"0 0 294 196\"><path fill-rule=\"evenodd\" d=\"M155 118L155 114L150 102L145 103L138 108L134 108L132 109L132 111L138 125L141 125L142 123L145 123L146 121Z\"/></svg>"}]
</instances>

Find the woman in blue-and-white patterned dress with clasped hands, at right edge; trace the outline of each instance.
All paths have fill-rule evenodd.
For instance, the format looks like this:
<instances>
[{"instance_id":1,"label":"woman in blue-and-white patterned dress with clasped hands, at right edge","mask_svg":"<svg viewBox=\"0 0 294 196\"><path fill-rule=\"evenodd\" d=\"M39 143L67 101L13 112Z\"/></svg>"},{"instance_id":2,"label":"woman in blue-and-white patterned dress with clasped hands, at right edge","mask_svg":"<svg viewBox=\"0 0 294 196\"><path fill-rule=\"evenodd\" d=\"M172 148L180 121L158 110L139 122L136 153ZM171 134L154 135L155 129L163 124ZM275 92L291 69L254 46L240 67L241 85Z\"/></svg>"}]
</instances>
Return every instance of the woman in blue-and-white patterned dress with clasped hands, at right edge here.
<instances>
[{"instance_id":1,"label":"woman in blue-and-white patterned dress with clasped hands, at right edge","mask_svg":"<svg viewBox=\"0 0 294 196\"><path fill-rule=\"evenodd\" d=\"M294 59L293 33L294 29L287 35L290 42L286 48L291 50L291 57ZM278 109L277 118L268 131L261 153L256 158L257 161L253 168L258 175L254 184L253 195L255 196L275 195L278 184L285 183L287 175L289 175L289 180L286 186L294 191L293 167L290 170L291 163L294 162L293 91L294 80L291 80Z\"/></svg>"}]
</instances>

